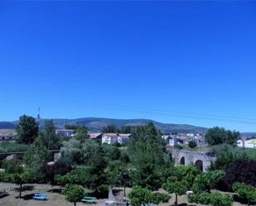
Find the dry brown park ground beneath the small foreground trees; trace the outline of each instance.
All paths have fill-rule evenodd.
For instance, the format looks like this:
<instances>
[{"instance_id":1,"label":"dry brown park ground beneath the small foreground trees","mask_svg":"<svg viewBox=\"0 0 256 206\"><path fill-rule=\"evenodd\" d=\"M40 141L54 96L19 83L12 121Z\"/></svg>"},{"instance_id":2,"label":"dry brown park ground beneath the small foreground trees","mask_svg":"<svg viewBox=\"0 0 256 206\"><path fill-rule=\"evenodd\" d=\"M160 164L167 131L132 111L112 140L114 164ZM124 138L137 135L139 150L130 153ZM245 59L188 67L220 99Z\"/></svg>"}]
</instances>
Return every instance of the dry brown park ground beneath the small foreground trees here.
<instances>
[{"instance_id":1,"label":"dry brown park ground beneath the small foreground trees","mask_svg":"<svg viewBox=\"0 0 256 206\"><path fill-rule=\"evenodd\" d=\"M17 185L15 184L3 184L0 183L0 190L1 189L8 189L11 186L11 191L9 192L9 195L6 197L3 197L0 199L0 205L1 206L72 206L74 204L68 203L65 200L65 197L60 194L60 188L55 186L54 192L51 193L51 185L49 184L26 184L24 185L24 190L22 192L22 199L18 199L17 195ZM116 188L118 190L121 190L123 188ZM127 194L131 189L127 189ZM31 196L36 192L46 192L48 194L47 200L33 200L31 199ZM164 192L162 189L159 190L159 192ZM123 192L118 192L116 194L118 199L123 198ZM170 206L174 204L174 197L175 195L171 195L171 199L169 200L169 203L166 204L159 204L160 206ZM77 206L92 206L92 205L98 205L98 204L104 204L104 201L107 199L98 199L97 204L83 204L83 203L77 203ZM187 204L186 201L186 195L179 196L178 202L181 206L187 206L187 205L200 205L201 204ZM246 204L239 204L237 202L234 202L234 206L242 206Z\"/></svg>"}]
</instances>

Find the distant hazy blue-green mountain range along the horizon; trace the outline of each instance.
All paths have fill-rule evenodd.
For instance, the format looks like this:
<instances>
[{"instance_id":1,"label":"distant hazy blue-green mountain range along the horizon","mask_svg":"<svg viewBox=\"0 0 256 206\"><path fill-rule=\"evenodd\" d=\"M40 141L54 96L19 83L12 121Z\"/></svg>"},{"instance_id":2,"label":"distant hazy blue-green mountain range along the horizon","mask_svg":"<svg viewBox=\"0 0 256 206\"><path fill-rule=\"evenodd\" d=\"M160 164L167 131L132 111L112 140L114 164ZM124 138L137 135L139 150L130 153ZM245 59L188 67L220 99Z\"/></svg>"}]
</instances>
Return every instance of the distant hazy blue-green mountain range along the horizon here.
<instances>
[{"instance_id":1,"label":"distant hazy blue-green mountain range along the horizon","mask_svg":"<svg viewBox=\"0 0 256 206\"><path fill-rule=\"evenodd\" d=\"M89 128L90 131L99 132L103 127L110 124L114 124L117 127L122 126L138 126L145 125L147 122L152 121L149 119L113 119L113 118L99 118L99 117L84 117L77 119L53 119L56 128L64 128L65 124L70 125L84 125ZM41 127L44 127L45 120L41 120ZM206 132L205 127L196 127L187 124L170 124L152 121L154 125L162 132ZM14 122L0 122L0 129L12 129L17 124Z\"/></svg>"}]
</instances>

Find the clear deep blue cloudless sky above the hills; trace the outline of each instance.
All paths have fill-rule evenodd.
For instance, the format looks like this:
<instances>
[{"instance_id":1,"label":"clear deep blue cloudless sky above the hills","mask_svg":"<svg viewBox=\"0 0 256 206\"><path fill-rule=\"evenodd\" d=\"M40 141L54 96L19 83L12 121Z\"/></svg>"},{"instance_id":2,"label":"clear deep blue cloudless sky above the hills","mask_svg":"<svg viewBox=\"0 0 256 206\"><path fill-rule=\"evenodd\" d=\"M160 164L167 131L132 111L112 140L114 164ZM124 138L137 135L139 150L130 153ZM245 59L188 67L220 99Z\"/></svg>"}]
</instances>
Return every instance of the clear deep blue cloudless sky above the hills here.
<instances>
[{"instance_id":1,"label":"clear deep blue cloudless sky above the hills","mask_svg":"<svg viewBox=\"0 0 256 206\"><path fill-rule=\"evenodd\" d=\"M0 2L0 120L256 132L256 2Z\"/></svg>"}]
</instances>

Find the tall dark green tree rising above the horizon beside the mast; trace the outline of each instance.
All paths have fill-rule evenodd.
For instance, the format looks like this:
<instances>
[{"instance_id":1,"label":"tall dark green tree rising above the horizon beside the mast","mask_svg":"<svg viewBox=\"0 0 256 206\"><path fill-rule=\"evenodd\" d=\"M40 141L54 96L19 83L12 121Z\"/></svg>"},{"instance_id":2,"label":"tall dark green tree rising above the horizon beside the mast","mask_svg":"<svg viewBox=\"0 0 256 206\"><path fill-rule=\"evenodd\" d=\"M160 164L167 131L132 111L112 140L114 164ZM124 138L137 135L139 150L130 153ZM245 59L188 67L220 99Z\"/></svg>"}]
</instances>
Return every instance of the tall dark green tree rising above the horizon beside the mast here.
<instances>
[{"instance_id":1,"label":"tall dark green tree rising above the horizon beside the mast","mask_svg":"<svg viewBox=\"0 0 256 206\"><path fill-rule=\"evenodd\" d=\"M38 135L38 125L34 117L23 115L19 118L19 122L16 127L19 143L31 144Z\"/></svg>"}]
</instances>

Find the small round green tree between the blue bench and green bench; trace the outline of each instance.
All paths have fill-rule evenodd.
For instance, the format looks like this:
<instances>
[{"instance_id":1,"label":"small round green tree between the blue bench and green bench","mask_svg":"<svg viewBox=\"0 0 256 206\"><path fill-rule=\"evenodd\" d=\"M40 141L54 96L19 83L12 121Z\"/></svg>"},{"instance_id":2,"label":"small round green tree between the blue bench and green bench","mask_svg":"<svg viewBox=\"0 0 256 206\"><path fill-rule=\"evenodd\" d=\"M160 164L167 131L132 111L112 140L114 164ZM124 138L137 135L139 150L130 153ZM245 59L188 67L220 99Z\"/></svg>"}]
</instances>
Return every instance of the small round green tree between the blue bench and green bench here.
<instances>
[{"instance_id":1,"label":"small round green tree between the blue bench and green bench","mask_svg":"<svg viewBox=\"0 0 256 206\"><path fill-rule=\"evenodd\" d=\"M65 195L65 199L70 203L74 203L74 206L77 202L84 197L85 191L84 189L77 184L66 184L62 189L62 194Z\"/></svg>"}]
</instances>

